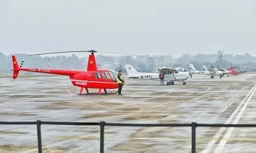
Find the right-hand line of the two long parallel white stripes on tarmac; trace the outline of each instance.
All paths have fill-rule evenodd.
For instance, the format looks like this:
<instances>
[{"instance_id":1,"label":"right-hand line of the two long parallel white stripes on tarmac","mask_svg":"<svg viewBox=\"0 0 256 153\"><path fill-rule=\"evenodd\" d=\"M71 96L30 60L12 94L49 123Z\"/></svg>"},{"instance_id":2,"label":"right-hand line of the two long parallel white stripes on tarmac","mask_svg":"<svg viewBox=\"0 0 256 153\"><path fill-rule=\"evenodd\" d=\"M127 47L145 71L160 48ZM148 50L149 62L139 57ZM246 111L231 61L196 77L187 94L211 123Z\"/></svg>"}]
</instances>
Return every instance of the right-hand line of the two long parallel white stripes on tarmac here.
<instances>
[{"instance_id":1,"label":"right-hand line of the two long parallel white stripes on tarmac","mask_svg":"<svg viewBox=\"0 0 256 153\"><path fill-rule=\"evenodd\" d=\"M243 107L241 108L239 114L237 115L236 119L234 119L234 121L232 122L232 124L237 124L239 119L241 118L241 116L244 113L245 108L247 107L248 103L251 100L251 97L254 95L256 91L256 88L254 88L253 92L250 94L250 97L246 100L245 104L243 105ZM226 134L224 135L224 137L222 138L221 142L218 144L217 148L215 149L214 152L221 152L227 142L227 140L229 139L230 135L232 134L234 130L234 127L229 127Z\"/></svg>"}]
</instances>

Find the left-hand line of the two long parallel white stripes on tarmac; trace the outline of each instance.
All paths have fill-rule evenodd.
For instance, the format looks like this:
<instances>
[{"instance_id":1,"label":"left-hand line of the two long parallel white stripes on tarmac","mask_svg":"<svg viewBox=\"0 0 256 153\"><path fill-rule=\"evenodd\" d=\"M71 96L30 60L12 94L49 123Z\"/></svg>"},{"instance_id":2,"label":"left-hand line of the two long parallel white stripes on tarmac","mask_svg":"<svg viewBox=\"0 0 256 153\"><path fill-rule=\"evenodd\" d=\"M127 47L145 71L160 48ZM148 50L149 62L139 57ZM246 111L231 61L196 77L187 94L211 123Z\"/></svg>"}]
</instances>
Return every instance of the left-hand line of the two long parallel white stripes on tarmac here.
<instances>
[{"instance_id":1,"label":"left-hand line of the two long parallel white stripes on tarmac","mask_svg":"<svg viewBox=\"0 0 256 153\"><path fill-rule=\"evenodd\" d=\"M229 124L231 122L231 120L234 118L234 116L238 113L238 111L240 110L240 108L242 107L242 105L244 104L245 100L249 97L249 95L252 93L252 91L254 90L256 86L256 83L254 83L253 87L251 88L250 92L245 96L245 98L242 100L242 102L238 105L238 107L236 108L236 110L234 110L234 112L229 116L229 118L227 119L227 121L224 124ZM215 134L214 137L211 138L210 142L207 144L207 146L204 148L204 150L202 151L202 153L207 153L211 150L212 146L215 145L215 143L217 142L217 140L220 138L220 136L222 135L222 133L224 132L225 127L221 127L218 132Z\"/></svg>"}]
</instances>

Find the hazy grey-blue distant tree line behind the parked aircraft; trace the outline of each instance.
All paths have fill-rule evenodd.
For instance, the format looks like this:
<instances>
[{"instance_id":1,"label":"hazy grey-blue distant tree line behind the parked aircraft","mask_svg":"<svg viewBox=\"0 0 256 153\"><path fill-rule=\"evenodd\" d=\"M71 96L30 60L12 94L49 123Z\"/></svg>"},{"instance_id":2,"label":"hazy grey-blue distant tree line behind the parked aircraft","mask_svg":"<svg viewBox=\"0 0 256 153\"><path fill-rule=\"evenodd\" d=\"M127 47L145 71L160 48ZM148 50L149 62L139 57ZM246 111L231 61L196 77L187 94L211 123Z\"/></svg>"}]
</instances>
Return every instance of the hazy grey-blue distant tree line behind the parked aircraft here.
<instances>
[{"instance_id":1,"label":"hazy grey-blue distant tree line behind the parked aircraft","mask_svg":"<svg viewBox=\"0 0 256 153\"><path fill-rule=\"evenodd\" d=\"M76 55L71 56L27 56L27 54L15 54L18 62L23 59L24 67L28 68L45 68L45 69L66 69L66 70L86 70L88 56L79 58ZM151 55L145 55L151 56ZM143 72L154 72L156 67L188 67L189 63L193 63L196 69L200 69L204 64L206 66L214 65L214 67L227 68L231 64L246 65L250 68L256 68L256 57L249 53L243 55L225 54L219 50L216 54L184 54L179 58L173 58L171 55L153 55L151 57L161 58L161 60L144 57L132 56L103 56L96 55L97 66L104 69L104 63L109 63L107 69L123 70L125 64L132 64L135 69ZM0 73L11 73L12 59L11 55L0 52Z\"/></svg>"}]
</instances>

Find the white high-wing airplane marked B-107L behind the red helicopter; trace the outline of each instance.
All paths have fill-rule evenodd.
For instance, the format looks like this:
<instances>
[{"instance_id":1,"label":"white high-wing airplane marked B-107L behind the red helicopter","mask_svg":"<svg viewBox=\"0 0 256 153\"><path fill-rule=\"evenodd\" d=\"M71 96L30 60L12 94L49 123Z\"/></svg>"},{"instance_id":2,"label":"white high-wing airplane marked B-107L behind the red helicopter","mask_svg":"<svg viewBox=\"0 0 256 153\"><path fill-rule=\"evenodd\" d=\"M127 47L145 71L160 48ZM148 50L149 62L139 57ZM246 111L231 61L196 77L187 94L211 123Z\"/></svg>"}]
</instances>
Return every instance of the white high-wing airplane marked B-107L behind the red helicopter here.
<instances>
[{"instance_id":1,"label":"white high-wing airplane marked B-107L behind the red helicopter","mask_svg":"<svg viewBox=\"0 0 256 153\"><path fill-rule=\"evenodd\" d=\"M125 69L128 74L128 78L133 78L133 79L142 79L142 80L154 80L154 79L159 79L159 73L163 71L164 73L164 79L168 80L166 82L167 85L174 85L174 81L183 81L183 85L186 84L184 80L189 78L189 72L180 72L179 70L173 69L173 68L157 68L156 73L143 73L143 72L138 72L136 71L132 65L127 64L124 65Z\"/></svg>"}]
</instances>

